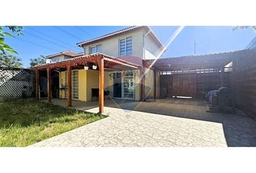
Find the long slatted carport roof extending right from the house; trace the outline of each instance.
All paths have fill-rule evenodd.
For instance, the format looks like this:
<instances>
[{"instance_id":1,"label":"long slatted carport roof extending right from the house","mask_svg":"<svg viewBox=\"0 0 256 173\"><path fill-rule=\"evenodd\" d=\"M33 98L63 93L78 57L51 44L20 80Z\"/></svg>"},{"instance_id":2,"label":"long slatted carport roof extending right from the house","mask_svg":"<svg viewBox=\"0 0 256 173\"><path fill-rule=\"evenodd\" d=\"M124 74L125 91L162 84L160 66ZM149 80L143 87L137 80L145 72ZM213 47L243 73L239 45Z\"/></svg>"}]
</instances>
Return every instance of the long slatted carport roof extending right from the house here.
<instances>
[{"instance_id":1,"label":"long slatted carport roof extending right from the house","mask_svg":"<svg viewBox=\"0 0 256 173\"><path fill-rule=\"evenodd\" d=\"M161 71L174 71L183 69L221 68L230 63L233 58L247 56L250 50L237 50L234 52L213 53L202 56L182 56L176 58L159 58L153 66ZM153 63L153 60L148 61Z\"/></svg>"}]
</instances>

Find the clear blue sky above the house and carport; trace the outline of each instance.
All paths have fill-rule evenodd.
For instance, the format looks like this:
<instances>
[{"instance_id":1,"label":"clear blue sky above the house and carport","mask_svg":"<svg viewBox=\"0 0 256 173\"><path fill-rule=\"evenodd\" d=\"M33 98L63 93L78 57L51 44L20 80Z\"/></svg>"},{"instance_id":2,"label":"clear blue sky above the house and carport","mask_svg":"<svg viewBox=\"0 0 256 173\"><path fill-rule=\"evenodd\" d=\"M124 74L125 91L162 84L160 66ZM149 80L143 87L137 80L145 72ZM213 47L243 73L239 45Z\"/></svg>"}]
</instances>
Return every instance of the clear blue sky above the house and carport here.
<instances>
[{"instance_id":1,"label":"clear blue sky above the house and carport","mask_svg":"<svg viewBox=\"0 0 256 173\"><path fill-rule=\"evenodd\" d=\"M30 58L40 55L47 56L62 50L82 52L76 43L90 40L124 27L24 27L22 36L7 37L7 43L14 48L22 58L24 67L28 67ZM150 27L159 40L166 45L168 38L177 27ZM176 37L163 58L189 56L194 54L194 40L196 40L196 54L219 53L244 49L256 37L252 27L244 30L232 31L232 27L184 27Z\"/></svg>"}]
</instances>

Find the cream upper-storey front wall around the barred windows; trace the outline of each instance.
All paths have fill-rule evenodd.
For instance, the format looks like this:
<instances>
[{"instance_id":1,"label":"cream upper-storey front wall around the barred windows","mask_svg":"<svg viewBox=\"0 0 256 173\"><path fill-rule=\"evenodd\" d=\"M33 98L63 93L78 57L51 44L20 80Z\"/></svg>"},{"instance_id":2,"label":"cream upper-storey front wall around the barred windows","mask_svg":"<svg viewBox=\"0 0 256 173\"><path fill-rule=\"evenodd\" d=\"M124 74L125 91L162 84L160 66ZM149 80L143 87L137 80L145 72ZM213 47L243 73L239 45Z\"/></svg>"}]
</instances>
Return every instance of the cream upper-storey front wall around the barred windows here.
<instances>
[{"instance_id":1,"label":"cream upper-storey front wall around the barred windows","mask_svg":"<svg viewBox=\"0 0 256 173\"><path fill-rule=\"evenodd\" d=\"M132 36L132 56L143 57L143 31L135 30L134 32L128 32L123 35L111 37L106 40L99 40L97 43L86 45L85 55L89 54L89 48L95 45L101 45L101 53L108 56L119 56L119 40L125 37Z\"/></svg>"}]
</instances>

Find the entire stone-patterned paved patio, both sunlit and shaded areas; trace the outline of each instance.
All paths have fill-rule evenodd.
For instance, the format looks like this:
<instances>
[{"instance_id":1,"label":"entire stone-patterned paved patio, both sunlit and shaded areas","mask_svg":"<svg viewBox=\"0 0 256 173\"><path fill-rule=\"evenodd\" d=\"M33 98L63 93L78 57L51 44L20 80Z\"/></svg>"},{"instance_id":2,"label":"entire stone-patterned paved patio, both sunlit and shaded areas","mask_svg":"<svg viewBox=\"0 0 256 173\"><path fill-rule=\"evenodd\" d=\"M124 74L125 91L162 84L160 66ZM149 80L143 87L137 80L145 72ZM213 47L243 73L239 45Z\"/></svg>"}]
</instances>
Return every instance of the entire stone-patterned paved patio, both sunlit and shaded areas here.
<instances>
[{"instance_id":1,"label":"entire stone-patterned paved patio, both sunlit and shaded areas","mask_svg":"<svg viewBox=\"0 0 256 173\"><path fill-rule=\"evenodd\" d=\"M53 104L66 106L65 99ZM73 107L98 112L98 101L73 101ZM195 99L134 102L106 99L95 123L35 143L33 146L256 146L256 123L241 111L206 112Z\"/></svg>"}]
</instances>

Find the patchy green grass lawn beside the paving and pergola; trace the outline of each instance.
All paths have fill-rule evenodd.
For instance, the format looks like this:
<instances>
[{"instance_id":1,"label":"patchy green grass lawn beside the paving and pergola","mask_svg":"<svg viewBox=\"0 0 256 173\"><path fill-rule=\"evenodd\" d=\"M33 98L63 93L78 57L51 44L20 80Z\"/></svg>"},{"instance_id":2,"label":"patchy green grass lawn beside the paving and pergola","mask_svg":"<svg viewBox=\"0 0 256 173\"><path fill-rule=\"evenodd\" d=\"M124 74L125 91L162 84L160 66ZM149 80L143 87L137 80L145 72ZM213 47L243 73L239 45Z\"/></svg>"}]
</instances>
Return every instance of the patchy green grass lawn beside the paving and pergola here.
<instances>
[{"instance_id":1,"label":"patchy green grass lawn beside the paving and pergola","mask_svg":"<svg viewBox=\"0 0 256 173\"><path fill-rule=\"evenodd\" d=\"M0 146L29 146L103 117L34 99L0 102Z\"/></svg>"}]
</instances>

